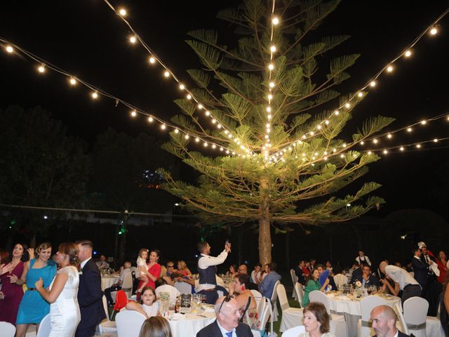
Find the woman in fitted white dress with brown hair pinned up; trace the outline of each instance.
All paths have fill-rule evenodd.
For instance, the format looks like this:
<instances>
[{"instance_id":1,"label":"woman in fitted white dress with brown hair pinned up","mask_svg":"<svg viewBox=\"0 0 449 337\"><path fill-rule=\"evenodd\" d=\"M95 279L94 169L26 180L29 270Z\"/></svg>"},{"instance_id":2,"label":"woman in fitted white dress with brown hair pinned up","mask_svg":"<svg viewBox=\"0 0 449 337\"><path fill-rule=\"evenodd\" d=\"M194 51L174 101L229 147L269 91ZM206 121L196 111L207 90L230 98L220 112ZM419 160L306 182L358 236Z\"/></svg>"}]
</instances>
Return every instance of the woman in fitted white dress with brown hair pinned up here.
<instances>
[{"instance_id":1,"label":"woman in fitted white dress with brown hair pinned up","mask_svg":"<svg viewBox=\"0 0 449 337\"><path fill-rule=\"evenodd\" d=\"M72 337L81 320L79 312L78 248L72 242L60 244L56 253L60 270L50 284L50 291L43 288L42 279L36 282L36 289L44 300L50 303L51 331L49 337Z\"/></svg>"}]
</instances>

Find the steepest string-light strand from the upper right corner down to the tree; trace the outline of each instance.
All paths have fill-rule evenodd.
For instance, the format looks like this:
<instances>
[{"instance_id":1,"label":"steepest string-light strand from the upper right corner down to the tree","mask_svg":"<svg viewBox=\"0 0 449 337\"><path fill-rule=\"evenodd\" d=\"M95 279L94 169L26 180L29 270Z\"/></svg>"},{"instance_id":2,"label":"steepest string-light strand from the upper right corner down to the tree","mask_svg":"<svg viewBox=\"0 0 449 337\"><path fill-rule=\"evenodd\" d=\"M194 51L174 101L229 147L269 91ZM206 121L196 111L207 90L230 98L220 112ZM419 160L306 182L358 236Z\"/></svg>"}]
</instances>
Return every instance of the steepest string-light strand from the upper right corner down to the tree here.
<instances>
[{"instance_id":1,"label":"steepest string-light strand from the upper right corner down to the tree","mask_svg":"<svg viewBox=\"0 0 449 337\"><path fill-rule=\"evenodd\" d=\"M297 142L297 141L307 141L309 138L312 138L314 136L318 136L322 131L321 129L326 127L328 124L330 124L330 119L332 117L338 116L340 114L340 111L349 111L352 106L354 106L355 103L362 100L365 95L366 91L372 90L376 86L378 86L378 79L381 77L382 74L391 74L394 72L394 65L395 62L403 59L403 58L410 58L413 55L413 47L424 37L424 36L430 36L434 37L438 33L438 29L440 28L438 25L438 22L441 21L449 13L449 8L447 8L441 15L436 18L429 26L426 27L413 41L406 46L406 48L403 48L401 52L399 52L391 61L387 62L387 64L382 67L381 70L379 70L373 77L371 77L368 81L366 81L361 88L356 91L356 93L349 95L349 98L342 102L335 110L333 110L332 114L330 114L326 119L323 119L322 121L319 121L316 126L311 128L308 132L304 133L299 139L290 141L286 145L286 147L282 150L285 151L288 146L291 144Z\"/></svg>"}]
</instances>

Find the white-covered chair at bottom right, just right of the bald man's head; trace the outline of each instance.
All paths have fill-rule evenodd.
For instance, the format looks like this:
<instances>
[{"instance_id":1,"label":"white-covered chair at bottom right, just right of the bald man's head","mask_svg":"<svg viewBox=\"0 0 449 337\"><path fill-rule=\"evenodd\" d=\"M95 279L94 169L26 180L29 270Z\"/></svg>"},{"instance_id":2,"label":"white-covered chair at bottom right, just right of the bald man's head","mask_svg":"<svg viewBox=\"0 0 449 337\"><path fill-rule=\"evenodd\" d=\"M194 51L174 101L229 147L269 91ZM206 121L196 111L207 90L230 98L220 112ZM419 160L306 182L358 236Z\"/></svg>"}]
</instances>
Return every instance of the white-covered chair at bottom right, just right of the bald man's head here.
<instances>
[{"instance_id":1,"label":"white-covered chair at bottom right, just right of the bald man's head","mask_svg":"<svg viewBox=\"0 0 449 337\"><path fill-rule=\"evenodd\" d=\"M408 331L415 337L444 337L443 327L436 317L427 316L429 302L421 297L408 298L403 305Z\"/></svg>"}]
</instances>

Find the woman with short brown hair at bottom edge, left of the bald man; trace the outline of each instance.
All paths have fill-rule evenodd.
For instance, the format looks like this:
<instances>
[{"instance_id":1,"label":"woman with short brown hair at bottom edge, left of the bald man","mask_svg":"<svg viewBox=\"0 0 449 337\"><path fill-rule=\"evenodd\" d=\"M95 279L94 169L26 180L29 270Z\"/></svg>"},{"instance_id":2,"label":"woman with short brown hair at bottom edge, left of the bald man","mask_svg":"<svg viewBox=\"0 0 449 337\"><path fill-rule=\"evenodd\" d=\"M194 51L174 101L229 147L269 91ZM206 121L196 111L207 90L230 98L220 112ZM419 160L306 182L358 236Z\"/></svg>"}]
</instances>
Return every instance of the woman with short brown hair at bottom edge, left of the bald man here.
<instances>
[{"instance_id":1,"label":"woman with short brown hair at bottom edge, left of the bald man","mask_svg":"<svg viewBox=\"0 0 449 337\"><path fill-rule=\"evenodd\" d=\"M323 303L309 303L304 308L303 314L306 332L298 337L335 337L329 332L329 315Z\"/></svg>"}]
</instances>

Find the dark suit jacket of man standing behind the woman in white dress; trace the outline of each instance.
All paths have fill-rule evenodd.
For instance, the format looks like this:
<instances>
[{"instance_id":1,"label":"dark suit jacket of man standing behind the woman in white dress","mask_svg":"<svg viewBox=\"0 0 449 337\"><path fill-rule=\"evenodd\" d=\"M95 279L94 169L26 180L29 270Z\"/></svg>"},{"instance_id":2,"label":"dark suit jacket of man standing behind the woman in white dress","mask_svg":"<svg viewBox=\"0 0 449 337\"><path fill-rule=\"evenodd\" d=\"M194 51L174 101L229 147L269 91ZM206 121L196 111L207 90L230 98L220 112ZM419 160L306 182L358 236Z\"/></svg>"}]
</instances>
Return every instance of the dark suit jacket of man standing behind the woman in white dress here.
<instances>
[{"instance_id":1,"label":"dark suit jacket of man standing behind the woman in white dress","mask_svg":"<svg viewBox=\"0 0 449 337\"><path fill-rule=\"evenodd\" d=\"M98 325L106 318L103 308L100 270L93 260L88 260L79 275L78 304L81 322L78 330ZM77 333L78 334L78 333Z\"/></svg>"}]
</instances>

